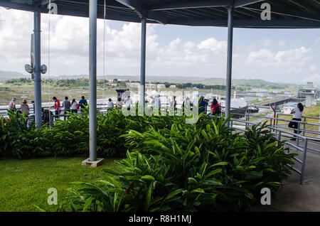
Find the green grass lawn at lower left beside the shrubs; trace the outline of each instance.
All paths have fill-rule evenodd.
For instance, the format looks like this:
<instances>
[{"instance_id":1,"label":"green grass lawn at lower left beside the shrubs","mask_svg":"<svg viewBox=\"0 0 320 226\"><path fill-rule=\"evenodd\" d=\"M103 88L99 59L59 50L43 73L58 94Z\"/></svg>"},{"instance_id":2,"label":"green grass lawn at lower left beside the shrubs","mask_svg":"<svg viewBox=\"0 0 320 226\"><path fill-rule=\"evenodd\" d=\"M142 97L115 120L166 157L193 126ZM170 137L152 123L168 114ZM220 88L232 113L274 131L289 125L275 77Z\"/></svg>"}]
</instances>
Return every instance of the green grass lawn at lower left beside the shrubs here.
<instances>
[{"instance_id":1,"label":"green grass lawn at lower left beside the shrubs","mask_svg":"<svg viewBox=\"0 0 320 226\"><path fill-rule=\"evenodd\" d=\"M38 211L33 205L55 211L62 198L71 194L66 189L77 188L70 182L103 179L107 173L102 168L120 168L114 162L116 158L105 159L103 165L97 168L82 166L81 161L84 159L57 157L0 160L0 212ZM57 189L58 205L48 205L48 188Z\"/></svg>"}]
</instances>

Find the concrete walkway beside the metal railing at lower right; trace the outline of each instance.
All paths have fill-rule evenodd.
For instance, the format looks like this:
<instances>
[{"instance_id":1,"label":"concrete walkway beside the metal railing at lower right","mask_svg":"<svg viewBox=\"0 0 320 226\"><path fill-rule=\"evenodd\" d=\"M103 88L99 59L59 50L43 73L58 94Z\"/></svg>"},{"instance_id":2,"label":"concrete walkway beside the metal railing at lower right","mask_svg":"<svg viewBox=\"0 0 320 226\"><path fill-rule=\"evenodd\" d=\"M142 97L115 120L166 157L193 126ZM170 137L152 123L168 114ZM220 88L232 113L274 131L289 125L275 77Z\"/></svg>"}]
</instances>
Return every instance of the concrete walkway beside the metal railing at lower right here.
<instances>
[{"instance_id":1,"label":"concrete walkway beside the metal railing at lower right","mask_svg":"<svg viewBox=\"0 0 320 226\"><path fill-rule=\"evenodd\" d=\"M296 144L294 141L290 141ZM303 146L300 142L299 146ZM320 150L320 144L308 142L308 146ZM298 153L297 158L302 159L302 152L291 148L291 153ZM294 165L299 171L301 164ZM292 171L292 175L282 185L271 200L271 205L258 205L252 211L320 211L320 153L307 151L306 166L304 169L304 185L299 184L300 175Z\"/></svg>"}]
</instances>

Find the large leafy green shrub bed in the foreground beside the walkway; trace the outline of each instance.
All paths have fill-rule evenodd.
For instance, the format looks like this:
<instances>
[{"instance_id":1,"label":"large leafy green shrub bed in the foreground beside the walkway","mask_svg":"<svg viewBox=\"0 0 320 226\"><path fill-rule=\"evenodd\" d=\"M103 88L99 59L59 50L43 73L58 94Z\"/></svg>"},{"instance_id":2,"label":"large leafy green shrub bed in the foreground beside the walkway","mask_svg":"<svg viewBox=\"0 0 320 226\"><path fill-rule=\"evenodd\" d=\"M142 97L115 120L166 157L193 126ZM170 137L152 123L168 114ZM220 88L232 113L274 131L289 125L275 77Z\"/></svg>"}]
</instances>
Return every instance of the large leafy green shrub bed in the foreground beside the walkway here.
<instances>
[{"instance_id":1,"label":"large leafy green shrub bed in the foreground beside the walkway","mask_svg":"<svg viewBox=\"0 0 320 226\"><path fill-rule=\"evenodd\" d=\"M247 210L262 188L274 194L290 173L293 156L262 127L245 134L225 127L228 119L129 130L123 171L104 171L105 181L77 182L80 189L59 210L221 211Z\"/></svg>"}]
</instances>

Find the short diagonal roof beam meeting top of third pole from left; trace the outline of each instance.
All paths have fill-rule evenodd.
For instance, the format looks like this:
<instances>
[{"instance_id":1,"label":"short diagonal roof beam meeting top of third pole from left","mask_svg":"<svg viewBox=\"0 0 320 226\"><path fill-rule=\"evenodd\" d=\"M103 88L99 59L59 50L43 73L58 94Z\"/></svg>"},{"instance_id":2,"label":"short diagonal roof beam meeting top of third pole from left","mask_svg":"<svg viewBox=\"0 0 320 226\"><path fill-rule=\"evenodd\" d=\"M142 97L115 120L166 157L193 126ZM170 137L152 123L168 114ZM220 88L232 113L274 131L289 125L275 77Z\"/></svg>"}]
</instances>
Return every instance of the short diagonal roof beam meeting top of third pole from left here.
<instances>
[{"instance_id":1,"label":"short diagonal roof beam meeting top of third pole from left","mask_svg":"<svg viewBox=\"0 0 320 226\"><path fill-rule=\"evenodd\" d=\"M166 24L166 18L159 15L154 11L149 11L144 9L142 4L137 0L115 0L124 6L127 6L129 9L134 10L140 18L148 18L149 20L157 21L162 24Z\"/></svg>"}]
</instances>

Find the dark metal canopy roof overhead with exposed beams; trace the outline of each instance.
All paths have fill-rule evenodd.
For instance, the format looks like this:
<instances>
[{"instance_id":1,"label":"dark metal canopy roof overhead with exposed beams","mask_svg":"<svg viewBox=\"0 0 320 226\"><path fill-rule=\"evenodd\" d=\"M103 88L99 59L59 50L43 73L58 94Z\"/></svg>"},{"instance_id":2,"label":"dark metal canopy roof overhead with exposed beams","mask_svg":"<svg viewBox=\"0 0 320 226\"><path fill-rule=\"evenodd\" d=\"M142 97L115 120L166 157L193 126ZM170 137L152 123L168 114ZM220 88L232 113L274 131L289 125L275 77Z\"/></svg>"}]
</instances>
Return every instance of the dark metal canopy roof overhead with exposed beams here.
<instances>
[{"instance_id":1,"label":"dark metal canopy roof overhead with exposed beams","mask_svg":"<svg viewBox=\"0 0 320 226\"><path fill-rule=\"evenodd\" d=\"M58 14L89 17L89 0L51 0ZM104 18L104 0L97 0L97 17ZM0 0L9 9L48 13L49 0ZM271 20L263 21L262 3L271 5ZM116 21L187 26L228 26L234 7L235 28L320 28L320 0L106 0L106 18Z\"/></svg>"}]
</instances>

